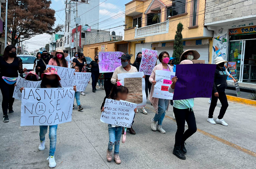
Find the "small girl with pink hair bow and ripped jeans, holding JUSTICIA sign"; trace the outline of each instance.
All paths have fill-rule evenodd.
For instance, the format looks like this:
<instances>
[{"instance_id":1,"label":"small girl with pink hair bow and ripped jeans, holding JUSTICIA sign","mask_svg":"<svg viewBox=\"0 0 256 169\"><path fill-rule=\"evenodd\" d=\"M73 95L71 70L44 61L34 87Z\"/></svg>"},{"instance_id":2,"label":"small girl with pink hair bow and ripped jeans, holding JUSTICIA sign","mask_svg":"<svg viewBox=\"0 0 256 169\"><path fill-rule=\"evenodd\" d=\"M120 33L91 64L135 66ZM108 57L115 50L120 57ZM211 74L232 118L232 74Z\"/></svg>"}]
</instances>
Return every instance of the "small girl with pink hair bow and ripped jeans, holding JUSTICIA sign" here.
<instances>
[{"instance_id":1,"label":"small girl with pink hair bow and ripped jeans, holding JUSTICIA sign","mask_svg":"<svg viewBox=\"0 0 256 169\"><path fill-rule=\"evenodd\" d=\"M121 86L122 84L120 82L117 82L114 84L111 94L110 94L110 99L113 100L126 100L128 97L128 89L127 87ZM104 111L104 106L102 107L101 111ZM134 109L136 112L137 109ZM112 149L113 145L115 145L115 150L114 150L114 161L116 164L121 164L121 160L119 157L119 144L120 144L120 138L122 135L122 126L115 126L115 125L108 125L109 129L109 144L108 144L108 150L107 150L107 160L110 162L112 161Z\"/></svg>"}]
</instances>

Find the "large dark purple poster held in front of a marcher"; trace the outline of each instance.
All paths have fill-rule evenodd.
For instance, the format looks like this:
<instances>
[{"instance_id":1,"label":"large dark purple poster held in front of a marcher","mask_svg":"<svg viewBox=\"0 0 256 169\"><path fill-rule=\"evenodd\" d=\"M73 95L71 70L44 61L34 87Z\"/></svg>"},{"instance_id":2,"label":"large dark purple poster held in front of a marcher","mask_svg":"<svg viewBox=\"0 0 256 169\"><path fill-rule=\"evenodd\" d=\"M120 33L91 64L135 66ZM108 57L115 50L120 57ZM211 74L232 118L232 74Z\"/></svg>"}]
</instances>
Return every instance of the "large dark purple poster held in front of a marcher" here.
<instances>
[{"instance_id":1,"label":"large dark purple poster held in front of a marcher","mask_svg":"<svg viewBox=\"0 0 256 169\"><path fill-rule=\"evenodd\" d=\"M177 64L173 100L210 98L216 64Z\"/></svg>"}]
</instances>

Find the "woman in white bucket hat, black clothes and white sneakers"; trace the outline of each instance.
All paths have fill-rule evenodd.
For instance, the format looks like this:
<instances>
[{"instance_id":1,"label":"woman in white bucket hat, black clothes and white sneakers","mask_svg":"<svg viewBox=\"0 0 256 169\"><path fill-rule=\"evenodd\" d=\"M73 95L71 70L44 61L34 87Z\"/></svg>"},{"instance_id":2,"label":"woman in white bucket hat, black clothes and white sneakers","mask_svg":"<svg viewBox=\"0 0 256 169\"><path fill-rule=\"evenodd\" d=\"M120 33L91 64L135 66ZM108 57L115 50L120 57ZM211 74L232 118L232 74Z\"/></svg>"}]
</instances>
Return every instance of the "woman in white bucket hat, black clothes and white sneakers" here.
<instances>
[{"instance_id":1,"label":"woman in white bucket hat, black clothes and white sneakers","mask_svg":"<svg viewBox=\"0 0 256 169\"><path fill-rule=\"evenodd\" d=\"M215 59L215 64L217 64L217 66L214 74L212 99L211 99L211 105L210 105L207 121L211 124L216 124L217 122L219 124L227 126L227 123L223 119L223 116L226 113L227 107L229 106L229 104L227 103L227 96L225 94L225 89L227 88L227 74L226 74L226 68L224 66L225 63L227 63L227 61L223 60L222 57L217 57ZM219 111L219 116L215 122L213 118L213 112L217 105L218 99L222 103L222 105L221 105L221 110Z\"/></svg>"}]
</instances>

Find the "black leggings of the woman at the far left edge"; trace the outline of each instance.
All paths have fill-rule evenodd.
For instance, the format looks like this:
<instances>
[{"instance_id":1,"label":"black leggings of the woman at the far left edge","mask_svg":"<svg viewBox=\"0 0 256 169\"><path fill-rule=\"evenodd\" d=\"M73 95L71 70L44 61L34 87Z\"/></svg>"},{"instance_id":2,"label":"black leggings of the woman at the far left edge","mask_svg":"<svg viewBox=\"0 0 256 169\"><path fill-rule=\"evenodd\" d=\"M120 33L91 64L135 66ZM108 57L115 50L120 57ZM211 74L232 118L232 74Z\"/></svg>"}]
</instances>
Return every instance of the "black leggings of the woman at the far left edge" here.
<instances>
[{"instance_id":1,"label":"black leggings of the woman at the far left edge","mask_svg":"<svg viewBox=\"0 0 256 169\"><path fill-rule=\"evenodd\" d=\"M7 115L8 107L12 107L14 98L12 97L14 92L14 84L7 84L2 78L0 78L0 88L3 96L2 109L4 115Z\"/></svg>"}]
</instances>

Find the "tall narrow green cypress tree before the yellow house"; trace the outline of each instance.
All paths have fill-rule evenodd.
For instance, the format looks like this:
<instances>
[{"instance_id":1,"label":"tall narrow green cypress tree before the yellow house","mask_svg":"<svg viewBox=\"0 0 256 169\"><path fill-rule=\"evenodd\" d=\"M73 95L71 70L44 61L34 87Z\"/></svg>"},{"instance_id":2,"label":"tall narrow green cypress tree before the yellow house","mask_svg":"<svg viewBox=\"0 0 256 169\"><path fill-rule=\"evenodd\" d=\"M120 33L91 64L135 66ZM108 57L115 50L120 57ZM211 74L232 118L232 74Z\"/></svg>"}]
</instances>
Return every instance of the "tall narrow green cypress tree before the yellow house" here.
<instances>
[{"instance_id":1,"label":"tall narrow green cypress tree before the yellow house","mask_svg":"<svg viewBox=\"0 0 256 169\"><path fill-rule=\"evenodd\" d=\"M182 23L178 23L176 35L174 37L174 44L173 44L173 57L176 58L174 64L180 63L179 61L180 56L183 53L183 40L182 40L182 34L181 34L182 30L183 30Z\"/></svg>"}]
</instances>

